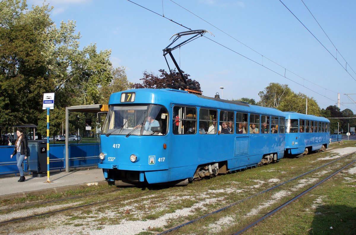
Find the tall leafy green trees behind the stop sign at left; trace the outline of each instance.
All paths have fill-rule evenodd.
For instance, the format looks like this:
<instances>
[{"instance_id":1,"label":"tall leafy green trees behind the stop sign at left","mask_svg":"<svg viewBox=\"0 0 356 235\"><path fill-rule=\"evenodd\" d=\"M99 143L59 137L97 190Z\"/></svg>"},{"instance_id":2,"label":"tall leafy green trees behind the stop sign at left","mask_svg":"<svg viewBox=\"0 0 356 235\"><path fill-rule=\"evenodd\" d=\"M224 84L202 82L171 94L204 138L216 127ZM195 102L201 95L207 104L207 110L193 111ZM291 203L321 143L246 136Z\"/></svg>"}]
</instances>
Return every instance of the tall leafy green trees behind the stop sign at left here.
<instances>
[{"instance_id":1,"label":"tall leafy green trees behind the stop sign at left","mask_svg":"<svg viewBox=\"0 0 356 235\"><path fill-rule=\"evenodd\" d=\"M0 124L33 123L46 133L43 93L55 92L50 122L51 134L58 134L64 108L99 103L101 87L113 79L111 51L97 53L95 44L79 50L75 21L57 28L49 17L52 9L0 1Z\"/></svg>"}]
</instances>

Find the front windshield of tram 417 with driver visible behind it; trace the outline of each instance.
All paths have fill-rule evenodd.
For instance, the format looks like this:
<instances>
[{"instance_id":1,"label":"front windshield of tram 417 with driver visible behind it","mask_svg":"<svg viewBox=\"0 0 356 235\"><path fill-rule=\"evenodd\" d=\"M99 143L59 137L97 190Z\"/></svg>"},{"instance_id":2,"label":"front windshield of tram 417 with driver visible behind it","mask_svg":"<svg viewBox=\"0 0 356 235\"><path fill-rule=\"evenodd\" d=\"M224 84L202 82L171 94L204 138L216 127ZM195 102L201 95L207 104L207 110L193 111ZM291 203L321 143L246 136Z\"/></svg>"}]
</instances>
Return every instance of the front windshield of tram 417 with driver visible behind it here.
<instances>
[{"instance_id":1,"label":"front windshield of tram 417 with driver visible behind it","mask_svg":"<svg viewBox=\"0 0 356 235\"><path fill-rule=\"evenodd\" d=\"M101 134L165 135L168 111L160 105L111 105Z\"/></svg>"}]
</instances>

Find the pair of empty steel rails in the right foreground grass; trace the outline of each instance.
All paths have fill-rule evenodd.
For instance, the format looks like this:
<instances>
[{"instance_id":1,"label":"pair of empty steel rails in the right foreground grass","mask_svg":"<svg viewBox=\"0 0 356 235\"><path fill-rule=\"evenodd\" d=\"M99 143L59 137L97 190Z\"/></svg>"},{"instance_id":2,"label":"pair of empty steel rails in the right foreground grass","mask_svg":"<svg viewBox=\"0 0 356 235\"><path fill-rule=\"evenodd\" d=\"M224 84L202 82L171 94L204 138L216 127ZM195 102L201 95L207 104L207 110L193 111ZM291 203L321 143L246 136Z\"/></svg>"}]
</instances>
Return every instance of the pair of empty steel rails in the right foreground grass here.
<instances>
[{"instance_id":1,"label":"pair of empty steel rails in the right foreground grass","mask_svg":"<svg viewBox=\"0 0 356 235\"><path fill-rule=\"evenodd\" d=\"M227 206L225 206L225 207L223 207L223 208L220 208L220 209L218 209L218 210L215 210L214 212L205 214L205 215L203 215L203 216L201 216L201 217L198 217L198 218L193 219L193 220L190 220L190 221L188 221L188 222L186 222L186 223L180 224L180 225L178 225L178 226L176 226L176 227L174 227L174 228L171 228L171 229L168 229L168 230L166 230L166 231L163 231L163 232L159 233L158 235L169 234L169 233L171 233L171 232L173 232L173 231L177 231L178 229L180 229L180 228L182 228L182 227L184 227L184 226L186 226L186 225L195 223L195 222L197 222L197 221L199 221L199 220L201 220L201 219L204 219L204 218L209 217L209 216L211 216L211 215L213 215L213 214L222 212L222 211L224 211L224 210L226 210L226 209L228 209L228 208L231 208L231 207L233 207L233 206L235 206L235 205L237 205L237 204L240 204L240 203L242 203L242 202L245 202L245 201L247 201L247 200L249 200L249 199L251 199L251 198L257 197L257 196L259 196L259 195L261 195L261 194L263 194L263 193L267 193L267 192L269 192L269 191L272 191L273 189L276 189L276 188L278 188L278 187L280 187L280 186L282 186L282 185L285 185L285 184L287 184L287 183L289 183L289 182L292 182L292 181L294 181L294 180L297 180L297 179L300 178L300 177L303 177L303 176L308 175L308 174L310 174L310 173L312 173L312 172L314 172L314 171L316 171L316 170L319 170L319 169L321 169L321 168L323 168L323 167L325 167L325 166L328 166L328 165L330 165L330 164L333 164L334 162L340 161L341 159L344 159L344 158L346 158L346 157L348 157L348 156L350 156L350 155L353 155L353 154L349 154L349 155L346 155L346 156L342 156L342 157L340 157L339 159L333 160L333 161L331 161L331 162L328 162L327 164L324 164L324 165L322 165L322 166L316 167L316 168L313 169L313 170L310 170L310 171L308 171L308 172L305 172L305 173L303 173L303 174L301 174L301 175L299 175L299 176L293 177L293 178L291 178L291 179L289 179L289 180L287 180L287 181L285 181L285 182L283 182L283 183L280 183L280 184L278 184L278 185L276 185L276 186L273 186L273 187L271 187L271 188L265 189L265 190L263 190L263 191L261 191L261 192L258 192L258 193L256 193L256 194L253 194L252 196L246 197L246 198L241 199L241 200L239 200L239 201L237 201L237 202L234 202L234 203L232 203L232 204L230 204L230 205L227 205ZM260 218L258 218L258 219L256 219L256 220L252 221L251 223L249 223L249 224L243 226L243 227L240 228L236 233L232 233L232 234L235 235L235 234L241 234L241 233L243 233L243 232L246 231L247 229L249 229L249 228L251 228L252 226L256 225L257 223L261 222L263 219L266 219L267 217L271 216L272 214L274 214L274 213L278 212L279 210L281 210L282 208L286 207L288 204L294 202L295 200L297 200L298 198L300 198L300 197L303 196L304 194L308 193L309 191L311 191L311 190L314 189L315 187L319 186L321 183L325 182L325 181L328 180L329 178L333 177L334 175L336 175L336 174L339 173L340 171L344 170L346 167L350 166L350 165L353 164L354 162L356 162L356 160L351 161L351 162L348 163L347 165L341 167L341 169L339 169L339 170L337 170L336 172L332 173L331 175L325 177L323 180L319 181L318 183L315 183L313 186L309 187L307 190L305 190L305 191L303 191L302 193L298 194L297 196L293 197L292 199L290 199L290 200L287 201L286 203L283 203L282 205L279 205L278 207L274 208L273 210L271 210L270 212L266 213L266 214L263 215L262 217L260 217Z\"/></svg>"}]
</instances>

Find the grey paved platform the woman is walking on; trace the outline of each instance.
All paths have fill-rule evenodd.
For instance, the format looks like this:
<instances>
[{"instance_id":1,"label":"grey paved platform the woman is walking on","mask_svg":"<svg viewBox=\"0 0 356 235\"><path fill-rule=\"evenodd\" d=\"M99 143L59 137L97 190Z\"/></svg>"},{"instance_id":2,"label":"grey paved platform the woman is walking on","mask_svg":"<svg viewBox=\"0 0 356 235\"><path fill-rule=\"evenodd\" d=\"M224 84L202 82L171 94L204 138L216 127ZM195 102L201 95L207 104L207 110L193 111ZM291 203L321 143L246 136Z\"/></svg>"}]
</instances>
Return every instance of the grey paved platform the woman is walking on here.
<instances>
[{"instance_id":1,"label":"grey paved platform the woman is walking on","mask_svg":"<svg viewBox=\"0 0 356 235\"><path fill-rule=\"evenodd\" d=\"M27 195L58 193L68 189L108 184L105 181L102 169L50 172L49 179L52 183L46 183L47 172L44 175L44 177L25 175L25 182L17 182L20 176L0 177L0 200L21 198Z\"/></svg>"}]
</instances>

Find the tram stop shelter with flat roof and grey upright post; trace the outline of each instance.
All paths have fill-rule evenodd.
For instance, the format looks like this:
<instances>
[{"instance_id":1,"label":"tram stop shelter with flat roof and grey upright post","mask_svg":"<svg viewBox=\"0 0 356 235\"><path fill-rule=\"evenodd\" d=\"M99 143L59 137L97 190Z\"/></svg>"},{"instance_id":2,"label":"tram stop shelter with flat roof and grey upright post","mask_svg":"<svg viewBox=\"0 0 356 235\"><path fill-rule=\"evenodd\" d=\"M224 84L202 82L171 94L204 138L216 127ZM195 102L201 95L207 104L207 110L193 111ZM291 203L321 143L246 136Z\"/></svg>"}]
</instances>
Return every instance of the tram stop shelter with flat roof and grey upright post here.
<instances>
[{"instance_id":1,"label":"tram stop shelter with flat roof and grey upright post","mask_svg":"<svg viewBox=\"0 0 356 235\"><path fill-rule=\"evenodd\" d=\"M78 105L66 107L66 172L69 172L69 111L83 112L83 113L107 113L109 111L108 105Z\"/></svg>"}]
</instances>

